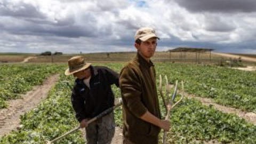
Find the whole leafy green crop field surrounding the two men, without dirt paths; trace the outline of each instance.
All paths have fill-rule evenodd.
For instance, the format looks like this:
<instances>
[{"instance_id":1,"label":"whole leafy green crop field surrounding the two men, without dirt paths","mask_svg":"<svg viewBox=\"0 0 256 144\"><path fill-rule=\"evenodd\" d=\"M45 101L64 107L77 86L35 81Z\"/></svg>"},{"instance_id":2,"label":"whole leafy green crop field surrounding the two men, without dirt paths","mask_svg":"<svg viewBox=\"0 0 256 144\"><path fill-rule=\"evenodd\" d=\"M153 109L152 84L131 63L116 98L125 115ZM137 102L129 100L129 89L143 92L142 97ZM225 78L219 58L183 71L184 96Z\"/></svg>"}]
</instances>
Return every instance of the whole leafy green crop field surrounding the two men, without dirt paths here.
<instances>
[{"instance_id":1,"label":"whole leafy green crop field surrounding the two men, without dirt paths","mask_svg":"<svg viewBox=\"0 0 256 144\"><path fill-rule=\"evenodd\" d=\"M98 63L95 65L108 66L119 73L125 63ZM12 77L23 77L23 80L19 80L19 83L25 81L22 83L25 88L29 87L26 83L41 79L41 77L36 77L36 79L29 80L26 78L28 73L30 75L43 75L42 79L54 73L61 73L59 81L51 89L47 99L43 100L33 110L20 116L21 129L0 138L0 143L43 144L45 140L59 137L78 126L70 102L71 90L66 83L68 81L69 84L73 85L74 77L63 75L66 65L0 65L0 67L1 84L2 82L7 83L8 80L15 81L15 78ZM49 69L47 70L46 68ZM160 74L167 75L170 84L173 84L176 80L179 82L184 81L186 93L197 95L198 97L211 98L220 105L256 113L255 71L249 72L217 66L177 63L156 63L155 68L157 84L159 84ZM42 82L42 80L40 81ZM35 83L35 85L39 83ZM13 90L12 87L17 85L10 83L3 86L3 90L9 91ZM119 98L119 89L116 86L113 86L113 89L115 97ZM181 87L179 87L179 90L181 90ZM165 92L165 89L163 91ZM3 100L12 99L12 97L9 92L1 95L1 98L4 98ZM179 98L180 95L178 94L177 99ZM162 116L164 117L165 110L160 95L159 101L161 103ZM115 110L115 119L117 126L122 127L122 110L120 108ZM256 141L256 126L254 124L235 114L226 114L212 106L205 106L196 99L183 99L177 107L172 109L170 120L171 131L167 134L167 143L216 141L218 143L253 144ZM159 143L162 143L162 135L163 131L159 136ZM84 142L82 132L78 131L55 143Z\"/></svg>"}]
</instances>

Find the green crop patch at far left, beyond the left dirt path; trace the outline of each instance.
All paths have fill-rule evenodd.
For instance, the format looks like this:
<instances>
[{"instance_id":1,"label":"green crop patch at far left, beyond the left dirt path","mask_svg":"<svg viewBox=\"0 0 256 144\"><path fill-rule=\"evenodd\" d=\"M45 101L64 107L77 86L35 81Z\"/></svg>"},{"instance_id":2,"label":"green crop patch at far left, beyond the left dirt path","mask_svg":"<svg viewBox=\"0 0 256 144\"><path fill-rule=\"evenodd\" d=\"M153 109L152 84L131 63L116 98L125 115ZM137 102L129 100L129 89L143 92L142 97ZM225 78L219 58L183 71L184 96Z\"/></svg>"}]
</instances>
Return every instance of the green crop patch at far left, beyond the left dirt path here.
<instances>
[{"instance_id":1,"label":"green crop patch at far left, beyond the left dirt path","mask_svg":"<svg viewBox=\"0 0 256 144\"><path fill-rule=\"evenodd\" d=\"M6 100L20 98L20 95L42 84L52 74L58 72L61 65L0 65L0 109L7 106Z\"/></svg>"}]
</instances>

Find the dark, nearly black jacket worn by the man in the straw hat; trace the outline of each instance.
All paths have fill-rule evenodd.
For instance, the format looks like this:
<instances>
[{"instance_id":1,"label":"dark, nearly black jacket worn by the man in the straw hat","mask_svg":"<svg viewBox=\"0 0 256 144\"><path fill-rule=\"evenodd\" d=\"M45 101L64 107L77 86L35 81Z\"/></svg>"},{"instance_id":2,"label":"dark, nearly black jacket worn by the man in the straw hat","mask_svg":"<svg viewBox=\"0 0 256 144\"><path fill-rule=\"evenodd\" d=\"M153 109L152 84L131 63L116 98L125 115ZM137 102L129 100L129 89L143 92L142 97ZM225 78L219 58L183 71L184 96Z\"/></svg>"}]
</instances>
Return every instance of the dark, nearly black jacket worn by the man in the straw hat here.
<instances>
[{"instance_id":1,"label":"dark, nearly black jacket worn by the man in the straw hat","mask_svg":"<svg viewBox=\"0 0 256 144\"><path fill-rule=\"evenodd\" d=\"M119 74L115 71L102 66L90 66L90 69L90 89L83 79L77 78L71 94L71 102L79 122L113 107L115 97L111 85L119 87Z\"/></svg>"}]
</instances>

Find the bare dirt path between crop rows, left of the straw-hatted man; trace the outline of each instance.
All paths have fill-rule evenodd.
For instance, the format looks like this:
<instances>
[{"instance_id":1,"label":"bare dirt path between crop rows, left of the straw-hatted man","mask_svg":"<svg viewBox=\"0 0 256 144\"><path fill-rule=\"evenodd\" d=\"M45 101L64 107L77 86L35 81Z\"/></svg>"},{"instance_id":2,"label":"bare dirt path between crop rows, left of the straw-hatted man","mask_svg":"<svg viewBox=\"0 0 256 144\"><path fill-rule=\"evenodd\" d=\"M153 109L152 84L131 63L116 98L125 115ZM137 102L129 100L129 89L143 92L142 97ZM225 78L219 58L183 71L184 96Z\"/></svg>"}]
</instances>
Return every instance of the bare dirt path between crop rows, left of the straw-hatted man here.
<instances>
[{"instance_id":1,"label":"bare dirt path between crop rows, left of the straw-hatted man","mask_svg":"<svg viewBox=\"0 0 256 144\"><path fill-rule=\"evenodd\" d=\"M22 95L22 99L10 100L7 108L0 109L0 137L17 129L20 124L19 116L33 109L45 99L58 78L58 74L49 77L43 85L35 86L33 90Z\"/></svg>"}]
</instances>

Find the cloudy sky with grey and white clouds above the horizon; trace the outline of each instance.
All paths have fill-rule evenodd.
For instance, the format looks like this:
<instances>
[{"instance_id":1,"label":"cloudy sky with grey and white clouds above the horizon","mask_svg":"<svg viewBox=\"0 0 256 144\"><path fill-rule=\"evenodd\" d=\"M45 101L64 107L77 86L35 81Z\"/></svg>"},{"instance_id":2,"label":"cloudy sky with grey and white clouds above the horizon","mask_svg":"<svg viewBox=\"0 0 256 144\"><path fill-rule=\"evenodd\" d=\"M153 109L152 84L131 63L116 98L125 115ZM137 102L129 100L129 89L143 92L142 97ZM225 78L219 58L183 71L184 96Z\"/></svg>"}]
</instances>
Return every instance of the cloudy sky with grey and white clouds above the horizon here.
<instances>
[{"instance_id":1,"label":"cloudy sky with grey and white clouds above the horizon","mask_svg":"<svg viewBox=\"0 0 256 144\"><path fill-rule=\"evenodd\" d=\"M175 47L256 54L255 0L0 0L0 52L135 51L153 27Z\"/></svg>"}]
</instances>

